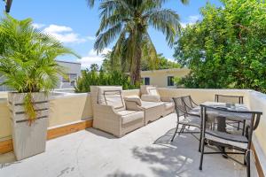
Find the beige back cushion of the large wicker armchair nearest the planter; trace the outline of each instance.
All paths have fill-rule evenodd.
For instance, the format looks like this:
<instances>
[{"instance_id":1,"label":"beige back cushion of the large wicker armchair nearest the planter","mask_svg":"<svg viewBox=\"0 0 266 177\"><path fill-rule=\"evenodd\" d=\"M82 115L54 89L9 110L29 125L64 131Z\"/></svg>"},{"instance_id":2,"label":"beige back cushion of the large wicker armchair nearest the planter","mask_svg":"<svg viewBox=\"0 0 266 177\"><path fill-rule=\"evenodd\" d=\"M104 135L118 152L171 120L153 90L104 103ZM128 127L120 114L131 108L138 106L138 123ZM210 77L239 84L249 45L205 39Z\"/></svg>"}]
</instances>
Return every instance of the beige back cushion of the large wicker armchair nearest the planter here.
<instances>
[{"instance_id":1,"label":"beige back cushion of the large wicker armchair nearest the planter","mask_svg":"<svg viewBox=\"0 0 266 177\"><path fill-rule=\"evenodd\" d=\"M125 110L122 88L119 86L98 87L98 104L111 105L117 111Z\"/></svg>"}]
</instances>

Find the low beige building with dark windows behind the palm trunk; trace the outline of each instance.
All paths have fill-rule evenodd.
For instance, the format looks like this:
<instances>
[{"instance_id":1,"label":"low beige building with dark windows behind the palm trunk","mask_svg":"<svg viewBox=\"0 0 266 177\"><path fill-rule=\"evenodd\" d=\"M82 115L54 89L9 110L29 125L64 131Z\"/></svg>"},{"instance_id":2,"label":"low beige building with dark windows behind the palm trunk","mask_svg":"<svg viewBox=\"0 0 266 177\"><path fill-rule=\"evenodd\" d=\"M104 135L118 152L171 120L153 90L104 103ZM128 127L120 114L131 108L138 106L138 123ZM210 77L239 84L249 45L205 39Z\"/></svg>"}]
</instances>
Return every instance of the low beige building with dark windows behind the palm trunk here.
<instances>
[{"instance_id":1,"label":"low beige building with dark windows behind the palm trunk","mask_svg":"<svg viewBox=\"0 0 266 177\"><path fill-rule=\"evenodd\" d=\"M174 78L182 78L188 73L190 73L188 68L142 71L141 78L145 85L153 85L159 88L176 88Z\"/></svg>"}]
</instances>

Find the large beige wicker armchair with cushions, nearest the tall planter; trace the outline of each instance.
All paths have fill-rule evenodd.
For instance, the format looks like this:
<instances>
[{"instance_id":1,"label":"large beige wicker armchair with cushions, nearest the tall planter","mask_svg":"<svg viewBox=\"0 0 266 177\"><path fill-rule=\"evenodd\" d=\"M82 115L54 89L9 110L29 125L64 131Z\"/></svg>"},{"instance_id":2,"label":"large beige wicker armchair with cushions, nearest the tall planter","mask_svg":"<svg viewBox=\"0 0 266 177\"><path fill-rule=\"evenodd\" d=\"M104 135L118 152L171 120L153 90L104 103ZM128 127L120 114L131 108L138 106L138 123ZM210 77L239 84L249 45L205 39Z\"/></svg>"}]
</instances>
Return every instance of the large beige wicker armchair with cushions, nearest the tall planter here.
<instances>
[{"instance_id":1,"label":"large beige wicker armchair with cushions, nearest the tall planter","mask_svg":"<svg viewBox=\"0 0 266 177\"><path fill-rule=\"evenodd\" d=\"M144 112L126 108L121 86L90 86L93 127L117 137L144 126Z\"/></svg>"}]
</instances>

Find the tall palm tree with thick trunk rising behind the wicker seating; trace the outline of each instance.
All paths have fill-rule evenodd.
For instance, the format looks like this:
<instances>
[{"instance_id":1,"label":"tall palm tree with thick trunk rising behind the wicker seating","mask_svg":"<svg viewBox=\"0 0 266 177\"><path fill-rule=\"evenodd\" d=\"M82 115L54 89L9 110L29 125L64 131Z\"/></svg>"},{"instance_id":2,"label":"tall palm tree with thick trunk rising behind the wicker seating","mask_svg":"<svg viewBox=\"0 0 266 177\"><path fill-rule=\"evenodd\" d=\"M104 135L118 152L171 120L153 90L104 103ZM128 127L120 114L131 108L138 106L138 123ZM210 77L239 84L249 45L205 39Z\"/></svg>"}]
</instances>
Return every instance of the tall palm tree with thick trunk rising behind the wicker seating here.
<instances>
[{"instance_id":1,"label":"tall palm tree with thick trunk rising behind the wicker seating","mask_svg":"<svg viewBox=\"0 0 266 177\"><path fill-rule=\"evenodd\" d=\"M88 0L89 2L94 2ZM158 64L148 27L154 27L166 35L169 46L175 42L180 29L179 16L170 9L163 9L167 0L102 0L100 4L100 26L94 49L104 50L116 38L112 60L120 60L122 70L129 69L133 84L140 81L141 58ZM183 0L183 3L188 1ZM93 4L91 4L93 5ZM116 63L112 62L111 63Z\"/></svg>"}]
</instances>

